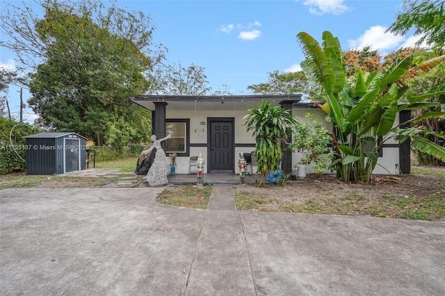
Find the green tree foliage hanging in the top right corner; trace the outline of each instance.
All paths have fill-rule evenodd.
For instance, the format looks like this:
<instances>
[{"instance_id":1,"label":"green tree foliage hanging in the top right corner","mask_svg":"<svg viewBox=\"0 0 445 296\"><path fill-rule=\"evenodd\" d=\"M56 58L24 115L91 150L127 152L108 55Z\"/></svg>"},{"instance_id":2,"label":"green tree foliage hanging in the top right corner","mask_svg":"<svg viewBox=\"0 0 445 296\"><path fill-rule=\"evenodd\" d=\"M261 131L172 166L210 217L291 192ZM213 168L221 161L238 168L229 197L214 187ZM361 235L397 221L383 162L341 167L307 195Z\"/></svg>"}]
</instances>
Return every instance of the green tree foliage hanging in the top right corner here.
<instances>
[{"instance_id":1,"label":"green tree foliage hanging in the top right corner","mask_svg":"<svg viewBox=\"0 0 445 296\"><path fill-rule=\"evenodd\" d=\"M421 38L417 44L426 44L439 51L445 45L445 2L443 0L404 0L403 12L398 13L396 21L387 31L405 35L414 28L414 35Z\"/></svg>"}]
</instances>

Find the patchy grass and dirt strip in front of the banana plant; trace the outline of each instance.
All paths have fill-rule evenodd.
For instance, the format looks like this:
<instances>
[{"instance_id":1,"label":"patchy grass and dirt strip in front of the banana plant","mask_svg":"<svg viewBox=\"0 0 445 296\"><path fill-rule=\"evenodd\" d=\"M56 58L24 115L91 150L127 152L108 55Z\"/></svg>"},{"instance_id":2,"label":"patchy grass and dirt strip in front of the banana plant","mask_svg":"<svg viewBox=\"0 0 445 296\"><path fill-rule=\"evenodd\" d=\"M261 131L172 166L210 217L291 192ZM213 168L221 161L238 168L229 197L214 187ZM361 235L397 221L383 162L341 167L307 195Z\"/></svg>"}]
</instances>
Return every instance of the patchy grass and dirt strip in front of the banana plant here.
<instances>
[{"instance_id":1,"label":"patchy grass and dirt strip in front of the banana plant","mask_svg":"<svg viewBox=\"0 0 445 296\"><path fill-rule=\"evenodd\" d=\"M444 168L445 169L445 168ZM343 183L332 174L310 174L286 186L235 186L245 211L369 215L445 221L445 177L373 176L372 183Z\"/></svg>"}]
</instances>

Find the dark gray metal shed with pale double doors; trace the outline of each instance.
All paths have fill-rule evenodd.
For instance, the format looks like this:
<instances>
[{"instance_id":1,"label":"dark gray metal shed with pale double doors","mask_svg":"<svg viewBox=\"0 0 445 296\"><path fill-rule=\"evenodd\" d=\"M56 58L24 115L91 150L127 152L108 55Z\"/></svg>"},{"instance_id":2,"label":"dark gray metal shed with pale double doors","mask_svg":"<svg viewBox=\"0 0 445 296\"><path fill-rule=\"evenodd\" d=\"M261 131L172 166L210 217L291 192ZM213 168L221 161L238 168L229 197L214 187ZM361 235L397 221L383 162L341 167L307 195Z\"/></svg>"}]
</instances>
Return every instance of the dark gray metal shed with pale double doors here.
<instances>
[{"instance_id":1,"label":"dark gray metal shed with pale double doors","mask_svg":"<svg viewBox=\"0 0 445 296\"><path fill-rule=\"evenodd\" d=\"M72 132L27 135L26 174L65 174L86 168L87 138Z\"/></svg>"}]
</instances>

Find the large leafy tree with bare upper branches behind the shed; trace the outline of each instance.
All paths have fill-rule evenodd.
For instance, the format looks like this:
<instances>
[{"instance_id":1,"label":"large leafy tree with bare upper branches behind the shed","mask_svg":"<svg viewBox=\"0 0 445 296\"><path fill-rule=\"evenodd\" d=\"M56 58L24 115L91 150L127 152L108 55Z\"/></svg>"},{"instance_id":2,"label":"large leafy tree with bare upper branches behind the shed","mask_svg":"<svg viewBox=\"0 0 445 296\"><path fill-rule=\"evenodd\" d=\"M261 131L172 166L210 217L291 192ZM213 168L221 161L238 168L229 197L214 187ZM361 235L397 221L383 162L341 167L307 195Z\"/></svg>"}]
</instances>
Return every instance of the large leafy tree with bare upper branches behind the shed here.
<instances>
[{"instance_id":1,"label":"large leafy tree with bare upper branches behind the shed","mask_svg":"<svg viewBox=\"0 0 445 296\"><path fill-rule=\"evenodd\" d=\"M149 111L135 108L128 97L148 89L143 73L163 58L152 42L151 19L115 2L108 8L90 0L41 5L42 19L26 3L8 6L1 18L3 32L13 39L6 47L34 69L34 112L45 124L95 138L97 145L113 122L125 122L118 125L121 134L129 133L133 142L149 138Z\"/></svg>"}]
</instances>

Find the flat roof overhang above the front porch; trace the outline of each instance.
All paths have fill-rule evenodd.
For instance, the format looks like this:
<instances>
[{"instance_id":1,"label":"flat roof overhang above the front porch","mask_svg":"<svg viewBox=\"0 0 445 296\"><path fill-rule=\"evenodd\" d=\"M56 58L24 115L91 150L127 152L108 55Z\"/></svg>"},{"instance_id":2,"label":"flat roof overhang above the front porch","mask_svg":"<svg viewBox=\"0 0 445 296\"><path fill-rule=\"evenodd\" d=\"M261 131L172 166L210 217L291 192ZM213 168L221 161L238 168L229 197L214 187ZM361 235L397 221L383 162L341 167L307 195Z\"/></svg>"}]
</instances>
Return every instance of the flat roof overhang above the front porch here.
<instances>
[{"instance_id":1,"label":"flat roof overhang above the front porch","mask_svg":"<svg viewBox=\"0 0 445 296\"><path fill-rule=\"evenodd\" d=\"M270 101L277 106L284 101L296 104L301 100L301 94L274 95L236 95L236 96L159 96L132 95L129 101L154 111L156 103L166 103L165 110L184 111L220 111L220 110L248 110L258 108L262 101Z\"/></svg>"}]
</instances>

